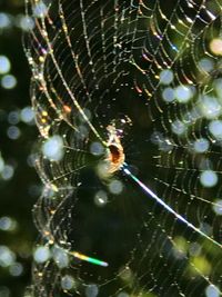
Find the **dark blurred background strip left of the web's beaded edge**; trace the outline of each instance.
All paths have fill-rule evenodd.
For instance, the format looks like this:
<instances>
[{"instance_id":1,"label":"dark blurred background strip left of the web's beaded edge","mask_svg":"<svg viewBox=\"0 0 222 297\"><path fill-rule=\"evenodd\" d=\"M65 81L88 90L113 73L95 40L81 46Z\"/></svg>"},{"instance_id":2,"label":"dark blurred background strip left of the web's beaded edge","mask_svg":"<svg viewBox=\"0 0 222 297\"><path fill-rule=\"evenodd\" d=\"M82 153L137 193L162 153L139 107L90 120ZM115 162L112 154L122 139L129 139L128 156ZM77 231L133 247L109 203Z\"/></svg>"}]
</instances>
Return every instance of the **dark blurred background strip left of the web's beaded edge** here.
<instances>
[{"instance_id":1,"label":"dark blurred background strip left of the web's beaded edge","mask_svg":"<svg viewBox=\"0 0 222 297\"><path fill-rule=\"evenodd\" d=\"M37 238L31 209L41 186L31 152L37 129L23 32L23 0L0 0L0 297L23 295Z\"/></svg>"}]
</instances>

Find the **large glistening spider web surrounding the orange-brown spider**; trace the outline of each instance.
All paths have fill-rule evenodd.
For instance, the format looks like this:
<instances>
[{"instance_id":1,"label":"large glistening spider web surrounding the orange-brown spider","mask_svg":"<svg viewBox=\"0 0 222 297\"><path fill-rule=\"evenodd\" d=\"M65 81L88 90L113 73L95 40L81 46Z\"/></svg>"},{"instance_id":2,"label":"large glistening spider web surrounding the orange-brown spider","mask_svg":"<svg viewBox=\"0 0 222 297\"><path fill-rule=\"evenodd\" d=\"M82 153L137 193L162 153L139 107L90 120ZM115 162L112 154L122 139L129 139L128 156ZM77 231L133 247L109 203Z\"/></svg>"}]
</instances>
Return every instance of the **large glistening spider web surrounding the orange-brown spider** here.
<instances>
[{"instance_id":1,"label":"large glistening spider web surrounding the orange-brown spider","mask_svg":"<svg viewBox=\"0 0 222 297\"><path fill-rule=\"evenodd\" d=\"M33 212L48 255L33 296L220 295L221 6L27 0L44 185ZM121 169L105 176L110 125L130 172L212 240Z\"/></svg>"}]
</instances>

